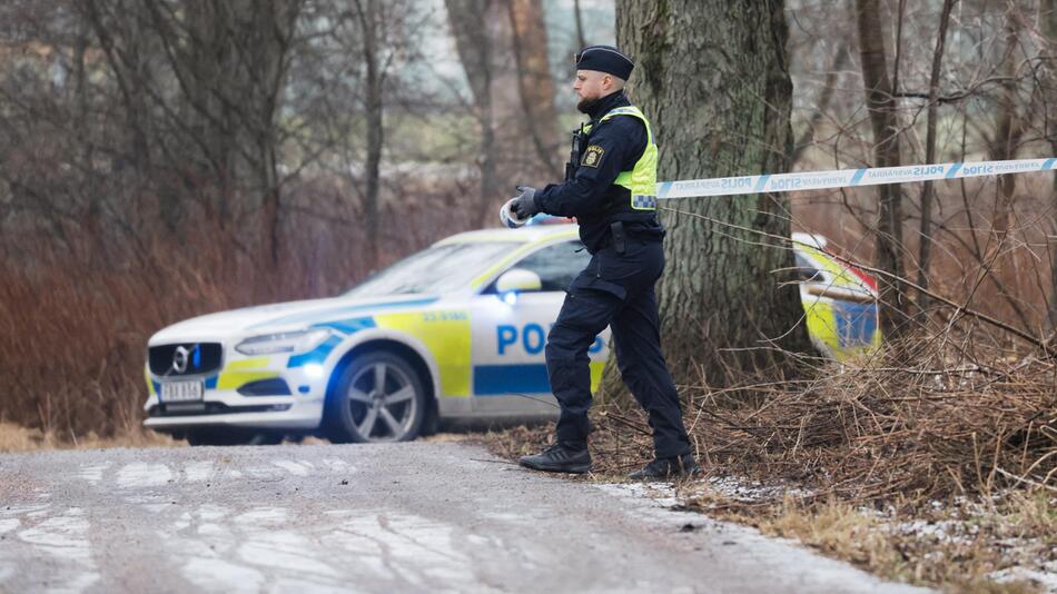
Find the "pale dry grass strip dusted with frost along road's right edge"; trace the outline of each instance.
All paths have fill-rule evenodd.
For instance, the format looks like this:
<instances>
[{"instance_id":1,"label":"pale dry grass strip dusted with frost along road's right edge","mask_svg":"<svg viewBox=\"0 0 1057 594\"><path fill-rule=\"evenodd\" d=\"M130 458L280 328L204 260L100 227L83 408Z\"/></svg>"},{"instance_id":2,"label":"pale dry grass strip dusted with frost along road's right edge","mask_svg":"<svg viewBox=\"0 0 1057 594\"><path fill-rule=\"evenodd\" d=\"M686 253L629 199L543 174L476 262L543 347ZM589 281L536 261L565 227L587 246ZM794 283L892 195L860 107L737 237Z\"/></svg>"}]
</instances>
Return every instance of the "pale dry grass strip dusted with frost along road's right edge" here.
<instances>
[{"instance_id":1,"label":"pale dry grass strip dusted with frost along road's right edge","mask_svg":"<svg viewBox=\"0 0 1057 594\"><path fill-rule=\"evenodd\" d=\"M549 443L552 430L553 426L518 427L490 433L484 442L494 453L513 461L539 451ZM592 449L599 471L572 479L624 481L628 468L614 464L606 447L593 444ZM628 447L624 452L634 449ZM645 457L630 466L644 461ZM725 468L713 466L709 471L722 473ZM887 580L946 592L1038 592L1030 582L999 583L989 574L1018 566L1037 568L1057 561L1057 498L1045 489L1005 491L987 499L954 497L944 504L915 504L899 495L866 502L834 493L820 497L799 491L797 487L803 485L797 483L767 485L777 488L750 486L748 491L755 495L735 497L715 488L710 481L683 482L676 484L676 496L683 508L797 539Z\"/></svg>"}]
</instances>

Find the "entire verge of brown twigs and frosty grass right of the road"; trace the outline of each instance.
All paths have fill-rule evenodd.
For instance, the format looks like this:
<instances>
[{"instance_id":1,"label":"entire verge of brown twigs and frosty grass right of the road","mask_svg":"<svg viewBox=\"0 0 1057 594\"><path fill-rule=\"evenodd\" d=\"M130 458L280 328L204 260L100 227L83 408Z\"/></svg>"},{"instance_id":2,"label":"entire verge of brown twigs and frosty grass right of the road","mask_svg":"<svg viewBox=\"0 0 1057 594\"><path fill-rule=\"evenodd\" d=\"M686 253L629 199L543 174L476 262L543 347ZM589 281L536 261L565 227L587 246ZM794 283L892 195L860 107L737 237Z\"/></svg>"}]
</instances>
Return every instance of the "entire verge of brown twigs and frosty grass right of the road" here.
<instances>
[{"instance_id":1,"label":"entire verge of brown twigs and frosty grass right of the road","mask_svg":"<svg viewBox=\"0 0 1057 594\"><path fill-rule=\"evenodd\" d=\"M967 344L908 345L916 365L899 368L861 360L796 382L683 387L699 461L773 488L747 501L690 483L681 499L888 578L1034 591L988 574L1057 562L1057 369L979 345L969 357ZM636 406L604 403L592 422L596 475L582 479L621 479L652 456ZM487 443L513 461L552 430L515 428Z\"/></svg>"}]
</instances>

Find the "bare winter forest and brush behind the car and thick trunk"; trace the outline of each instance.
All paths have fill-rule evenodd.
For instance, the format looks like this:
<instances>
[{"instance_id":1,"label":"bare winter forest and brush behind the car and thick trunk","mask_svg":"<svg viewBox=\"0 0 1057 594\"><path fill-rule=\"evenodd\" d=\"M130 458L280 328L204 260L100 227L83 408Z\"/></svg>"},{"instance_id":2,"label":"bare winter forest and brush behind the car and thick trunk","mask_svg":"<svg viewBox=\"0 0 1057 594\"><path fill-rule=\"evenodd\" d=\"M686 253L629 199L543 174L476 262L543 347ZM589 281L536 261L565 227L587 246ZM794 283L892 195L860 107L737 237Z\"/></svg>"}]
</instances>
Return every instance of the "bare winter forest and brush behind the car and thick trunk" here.
<instances>
[{"instance_id":1,"label":"bare winter forest and brush behind the car and thick trunk","mask_svg":"<svg viewBox=\"0 0 1057 594\"><path fill-rule=\"evenodd\" d=\"M73 440L136 433L145 344L158 328L334 295L436 239L494 226L514 184L560 177L581 121L572 56L613 43L618 10L602 0L3 2L0 420ZM895 162L1054 154L1049 1L790 0L782 12L789 170L892 157L877 150L865 93L878 65L863 56L878 47ZM921 293L900 307L957 325L989 356L1045 353L1057 321L1053 176L900 191L895 264L877 251L892 230L878 226L875 189L793 194L789 225L962 304L932 311Z\"/></svg>"}]
</instances>

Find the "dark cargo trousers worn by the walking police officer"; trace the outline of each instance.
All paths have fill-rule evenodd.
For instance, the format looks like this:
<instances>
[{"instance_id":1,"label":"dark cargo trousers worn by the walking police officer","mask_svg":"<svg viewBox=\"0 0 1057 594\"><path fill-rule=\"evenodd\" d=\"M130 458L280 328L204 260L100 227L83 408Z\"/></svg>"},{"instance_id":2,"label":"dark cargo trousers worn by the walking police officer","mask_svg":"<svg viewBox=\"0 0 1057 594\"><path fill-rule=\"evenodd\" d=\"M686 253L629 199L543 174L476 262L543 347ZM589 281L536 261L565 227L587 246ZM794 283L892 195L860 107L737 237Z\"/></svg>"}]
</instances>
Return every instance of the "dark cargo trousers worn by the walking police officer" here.
<instances>
[{"instance_id":1,"label":"dark cargo trousers worn by the walking police officer","mask_svg":"<svg viewBox=\"0 0 1057 594\"><path fill-rule=\"evenodd\" d=\"M663 270L661 241L628 238L623 254L600 249L570 284L546 344L547 376L562 408L559 442L586 445L592 402L587 349L611 326L621 377L649 414L656 456L690 453L679 393L661 353L653 287Z\"/></svg>"}]
</instances>

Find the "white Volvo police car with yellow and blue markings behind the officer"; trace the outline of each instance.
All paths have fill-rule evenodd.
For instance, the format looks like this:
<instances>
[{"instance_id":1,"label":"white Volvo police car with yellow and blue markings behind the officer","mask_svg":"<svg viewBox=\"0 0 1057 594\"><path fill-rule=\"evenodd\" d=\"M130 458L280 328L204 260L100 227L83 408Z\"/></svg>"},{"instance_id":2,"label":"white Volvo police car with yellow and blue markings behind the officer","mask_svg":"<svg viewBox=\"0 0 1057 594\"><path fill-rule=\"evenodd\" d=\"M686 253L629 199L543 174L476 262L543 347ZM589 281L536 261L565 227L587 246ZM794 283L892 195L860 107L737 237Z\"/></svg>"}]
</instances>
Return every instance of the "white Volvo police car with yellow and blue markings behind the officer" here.
<instances>
[{"instance_id":1,"label":"white Volvo police car with yellow and blue markings behind the officer","mask_svg":"<svg viewBox=\"0 0 1057 594\"><path fill-rule=\"evenodd\" d=\"M811 245L797 254L816 341L837 355L872 344L876 309L868 324L861 287L822 290L848 279ZM204 445L399 442L442 418L553 418L546 335L589 259L575 225L471 231L337 297L181 321L148 341L145 425ZM859 317L839 321L849 307ZM592 388L607 341L590 349Z\"/></svg>"}]
</instances>

